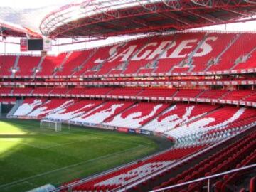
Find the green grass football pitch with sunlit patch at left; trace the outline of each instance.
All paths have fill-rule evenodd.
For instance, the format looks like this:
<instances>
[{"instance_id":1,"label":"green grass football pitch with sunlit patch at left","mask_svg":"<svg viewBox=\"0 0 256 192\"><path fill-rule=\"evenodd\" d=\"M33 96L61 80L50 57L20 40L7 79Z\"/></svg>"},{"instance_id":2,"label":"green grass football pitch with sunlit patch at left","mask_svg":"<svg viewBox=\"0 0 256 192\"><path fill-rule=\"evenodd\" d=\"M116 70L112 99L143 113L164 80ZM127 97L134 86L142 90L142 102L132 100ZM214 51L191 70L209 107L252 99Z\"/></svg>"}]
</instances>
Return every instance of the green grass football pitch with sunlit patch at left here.
<instances>
[{"instance_id":1,"label":"green grass football pitch with sunlit patch at left","mask_svg":"<svg viewBox=\"0 0 256 192\"><path fill-rule=\"evenodd\" d=\"M170 146L164 139L38 121L0 120L0 191L55 186L100 173Z\"/></svg>"}]
</instances>

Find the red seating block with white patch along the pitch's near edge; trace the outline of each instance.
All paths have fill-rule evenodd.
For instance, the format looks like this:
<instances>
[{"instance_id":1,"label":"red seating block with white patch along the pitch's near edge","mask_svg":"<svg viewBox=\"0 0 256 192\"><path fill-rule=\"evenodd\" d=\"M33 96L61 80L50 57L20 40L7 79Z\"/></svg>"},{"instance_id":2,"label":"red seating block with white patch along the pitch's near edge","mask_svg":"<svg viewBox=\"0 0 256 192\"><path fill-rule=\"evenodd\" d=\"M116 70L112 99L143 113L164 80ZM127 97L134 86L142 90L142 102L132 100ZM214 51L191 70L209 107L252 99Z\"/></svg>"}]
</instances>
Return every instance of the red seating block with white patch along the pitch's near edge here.
<instances>
[{"instance_id":1,"label":"red seating block with white patch along the pitch's near edge","mask_svg":"<svg viewBox=\"0 0 256 192\"><path fill-rule=\"evenodd\" d=\"M110 191L142 178L145 175L153 174L166 166L173 164L178 159L201 150L204 146L194 146L183 149L171 149L163 154L141 161L132 166L124 167L118 171L106 174L100 178L92 179L86 183L73 188L73 191Z\"/></svg>"}]
</instances>

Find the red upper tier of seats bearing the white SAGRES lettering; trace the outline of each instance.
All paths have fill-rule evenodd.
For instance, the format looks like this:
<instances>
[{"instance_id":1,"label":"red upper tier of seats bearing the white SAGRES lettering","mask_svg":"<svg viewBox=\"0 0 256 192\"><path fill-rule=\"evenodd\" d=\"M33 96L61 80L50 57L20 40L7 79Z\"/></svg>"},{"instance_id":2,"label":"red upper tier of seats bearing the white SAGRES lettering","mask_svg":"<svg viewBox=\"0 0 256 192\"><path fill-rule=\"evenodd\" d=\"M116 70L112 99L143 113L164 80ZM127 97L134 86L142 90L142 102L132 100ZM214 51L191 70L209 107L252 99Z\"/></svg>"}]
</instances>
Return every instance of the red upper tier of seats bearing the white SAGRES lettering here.
<instances>
[{"instance_id":1,"label":"red upper tier of seats bearing the white SAGRES lettering","mask_svg":"<svg viewBox=\"0 0 256 192\"><path fill-rule=\"evenodd\" d=\"M0 55L0 76L11 76L14 67L13 75L36 74L39 78L252 69L256 68L255 42L255 33L176 33L62 53L57 57ZM248 54L247 60L242 59Z\"/></svg>"}]
</instances>

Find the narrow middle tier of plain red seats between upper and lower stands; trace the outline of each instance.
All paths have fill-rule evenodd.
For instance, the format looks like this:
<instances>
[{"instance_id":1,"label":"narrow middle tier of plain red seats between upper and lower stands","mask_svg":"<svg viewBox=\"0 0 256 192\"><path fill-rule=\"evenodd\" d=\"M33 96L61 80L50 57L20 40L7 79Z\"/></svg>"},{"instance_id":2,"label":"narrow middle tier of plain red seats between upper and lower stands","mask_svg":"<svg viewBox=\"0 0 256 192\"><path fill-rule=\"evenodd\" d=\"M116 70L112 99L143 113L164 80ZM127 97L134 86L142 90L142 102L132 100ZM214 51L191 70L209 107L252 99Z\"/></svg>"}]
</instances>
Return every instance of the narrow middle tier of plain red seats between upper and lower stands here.
<instances>
[{"instance_id":1,"label":"narrow middle tier of plain red seats between upper and lower stands","mask_svg":"<svg viewBox=\"0 0 256 192\"><path fill-rule=\"evenodd\" d=\"M13 90L13 92L12 92ZM1 87L0 94L51 94L51 95L114 95L138 97L181 97L221 100L242 100L255 102L256 92L253 90L197 90L197 89L164 89L164 88L9 88Z\"/></svg>"}]
</instances>

